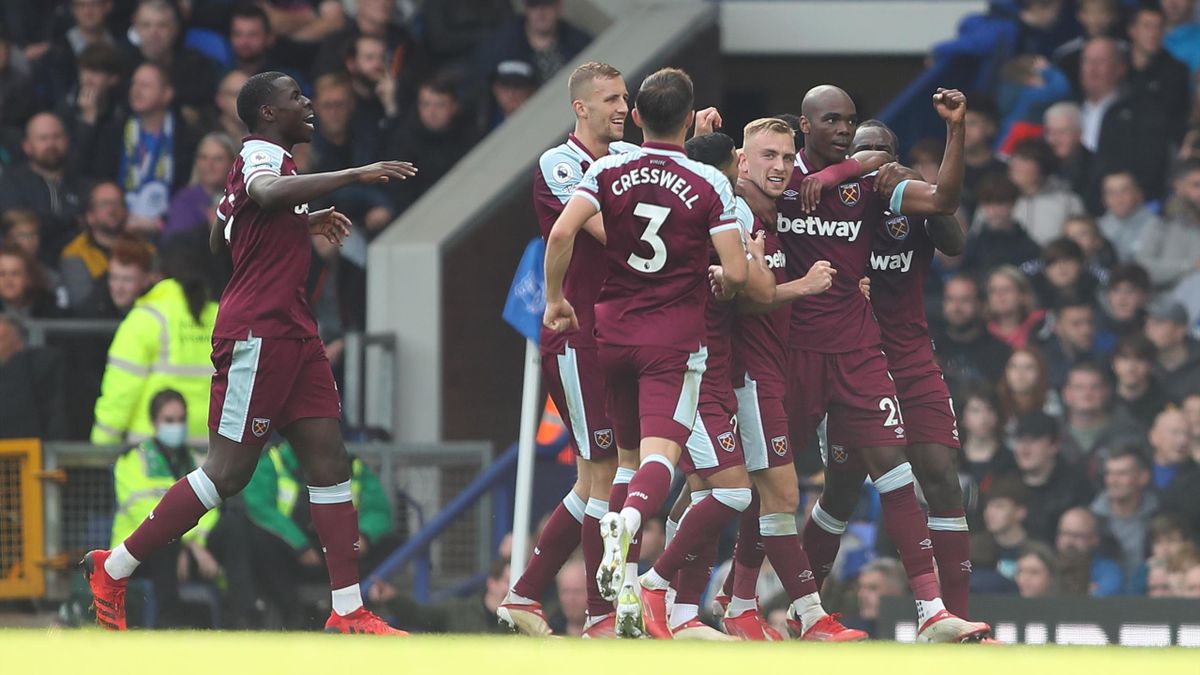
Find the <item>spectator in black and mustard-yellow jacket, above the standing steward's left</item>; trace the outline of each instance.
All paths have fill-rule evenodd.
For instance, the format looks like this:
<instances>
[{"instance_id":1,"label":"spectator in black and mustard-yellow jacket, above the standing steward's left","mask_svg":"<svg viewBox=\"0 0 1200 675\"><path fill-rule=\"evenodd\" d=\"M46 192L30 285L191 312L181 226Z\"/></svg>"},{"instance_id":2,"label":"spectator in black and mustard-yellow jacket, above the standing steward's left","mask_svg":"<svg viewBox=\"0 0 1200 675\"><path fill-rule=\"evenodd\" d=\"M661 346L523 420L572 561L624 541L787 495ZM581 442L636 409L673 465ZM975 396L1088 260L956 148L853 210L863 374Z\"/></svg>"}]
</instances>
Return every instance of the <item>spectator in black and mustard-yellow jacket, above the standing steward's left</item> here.
<instances>
[{"instance_id":1,"label":"spectator in black and mustard-yellow jacket, above the standing steward's left","mask_svg":"<svg viewBox=\"0 0 1200 675\"><path fill-rule=\"evenodd\" d=\"M83 232L62 249L59 269L62 273L67 303L77 309L91 295L96 280L108 269L108 256L116 238L126 232L128 211L121 187L102 180L88 191Z\"/></svg>"}]
</instances>

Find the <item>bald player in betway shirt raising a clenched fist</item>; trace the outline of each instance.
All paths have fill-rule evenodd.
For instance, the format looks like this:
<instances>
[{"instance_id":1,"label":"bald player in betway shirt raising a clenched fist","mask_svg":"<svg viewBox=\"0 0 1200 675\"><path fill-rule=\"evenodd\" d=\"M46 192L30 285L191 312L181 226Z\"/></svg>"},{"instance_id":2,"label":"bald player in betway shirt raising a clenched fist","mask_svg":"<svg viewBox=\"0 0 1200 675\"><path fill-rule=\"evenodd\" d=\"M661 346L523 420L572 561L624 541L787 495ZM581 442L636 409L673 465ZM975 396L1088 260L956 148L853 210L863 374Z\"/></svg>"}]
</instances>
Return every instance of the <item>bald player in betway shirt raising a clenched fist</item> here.
<instances>
[{"instance_id":1,"label":"bald player in betway shirt raising a clenched fist","mask_svg":"<svg viewBox=\"0 0 1200 675\"><path fill-rule=\"evenodd\" d=\"M895 191L898 215L952 214L959 205L966 100L958 91L938 90L934 106L947 120L946 161L936 186L910 181ZM793 184L841 161L858 121L850 96L830 85L809 90L800 112L804 150L797 157ZM874 183L874 177L842 183L815 210L803 209L786 192L779 202L778 229L788 275L803 275L817 259L829 261L838 271L828 292L793 304L787 392L791 438L806 446L828 413L829 461L844 464L850 449L866 466L880 491L883 525L900 551L917 601L918 640L980 639L990 632L985 623L959 619L942 602L929 530L904 453L907 436L895 384L881 350L878 323L858 287L886 208ZM804 549L818 575L827 574L832 563L822 546L828 548L828 540L844 531L844 521L816 504L805 525Z\"/></svg>"}]
</instances>

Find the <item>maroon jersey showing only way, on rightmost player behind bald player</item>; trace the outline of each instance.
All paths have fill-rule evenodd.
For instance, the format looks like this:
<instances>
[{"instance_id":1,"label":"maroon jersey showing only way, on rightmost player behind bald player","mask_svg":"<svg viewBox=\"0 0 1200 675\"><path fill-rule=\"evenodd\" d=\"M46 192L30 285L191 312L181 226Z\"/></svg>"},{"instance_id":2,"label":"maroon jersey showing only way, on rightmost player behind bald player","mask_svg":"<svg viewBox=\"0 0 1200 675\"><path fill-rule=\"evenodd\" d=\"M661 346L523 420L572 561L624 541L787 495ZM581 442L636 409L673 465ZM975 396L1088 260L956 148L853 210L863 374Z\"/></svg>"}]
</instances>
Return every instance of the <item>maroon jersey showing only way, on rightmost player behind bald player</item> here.
<instances>
[{"instance_id":1,"label":"maroon jersey showing only way, on rightmost player behind bald player","mask_svg":"<svg viewBox=\"0 0 1200 675\"><path fill-rule=\"evenodd\" d=\"M924 286L932 263L924 219L886 211L871 243L871 305L881 309L875 316L893 370L928 352Z\"/></svg>"}]
</instances>

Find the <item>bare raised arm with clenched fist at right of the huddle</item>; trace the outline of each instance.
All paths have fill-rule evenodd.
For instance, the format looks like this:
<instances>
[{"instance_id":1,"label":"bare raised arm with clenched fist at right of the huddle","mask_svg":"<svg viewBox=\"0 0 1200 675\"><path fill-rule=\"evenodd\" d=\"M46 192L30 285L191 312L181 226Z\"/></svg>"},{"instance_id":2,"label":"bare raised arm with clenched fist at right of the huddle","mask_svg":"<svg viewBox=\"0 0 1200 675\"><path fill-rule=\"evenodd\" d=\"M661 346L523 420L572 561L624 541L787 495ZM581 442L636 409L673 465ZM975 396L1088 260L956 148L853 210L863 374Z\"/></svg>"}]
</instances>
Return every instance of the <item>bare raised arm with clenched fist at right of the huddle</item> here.
<instances>
[{"instance_id":1,"label":"bare raised arm with clenched fist at right of the huddle","mask_svg":"<svg viewBox=\"0 0 1200 675\"><path fill-rule=\"evenodd\" d=\"M906 216L952 215L962 193L964 118L967 98L958 89L938 89L934 108L946 120L946 154L937 169L937 185L901 181L892 193L890 209Z\"/></svg>"}]
</instances>

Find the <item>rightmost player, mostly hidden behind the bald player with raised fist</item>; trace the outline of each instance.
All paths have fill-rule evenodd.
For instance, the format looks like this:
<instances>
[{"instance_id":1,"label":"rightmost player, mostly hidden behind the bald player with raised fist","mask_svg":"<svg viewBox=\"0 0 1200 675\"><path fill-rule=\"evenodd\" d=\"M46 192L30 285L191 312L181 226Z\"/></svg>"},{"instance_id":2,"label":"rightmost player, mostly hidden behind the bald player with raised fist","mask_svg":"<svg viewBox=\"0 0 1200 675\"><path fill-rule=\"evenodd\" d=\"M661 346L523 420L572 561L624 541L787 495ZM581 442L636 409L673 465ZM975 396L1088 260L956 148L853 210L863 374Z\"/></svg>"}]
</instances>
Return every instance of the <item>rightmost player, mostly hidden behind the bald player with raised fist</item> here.
<instances>
[{"instance_id":1,"label":"rightmost player, mostly hidden behind the bald player with raised fist","mask_svg":"<svg viewBox=\"0 0 1200 675\"><path fill-rule=\"evenodd\" d=\"M895 153L896 145L895 133L876 120L863 123L854 135L856 151ZM920 175L900 165L887 165L880 171L876 189L888 198L894 190L902 191L908 180L919 181ZM965 617L971 538L958 477L959 430L949 389L934 359L923 297L934 249L958 256L964 243L962 227L953 215L931 215L920 222L888 211L881 228L872 233L870 276L872 305L881 309L875 316L883 334L883 351L904 411L907 454L929 503L929 534L942 597L948 610ZM865 471L851 461L830 468L826 471L821 508L845 521L858 501ZM836 556L840 538L828 539L830 545L820 550L832 560L828 556Z\"/></svg>"}]
</instances>

